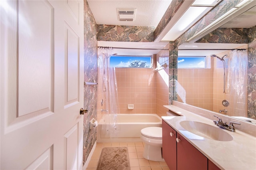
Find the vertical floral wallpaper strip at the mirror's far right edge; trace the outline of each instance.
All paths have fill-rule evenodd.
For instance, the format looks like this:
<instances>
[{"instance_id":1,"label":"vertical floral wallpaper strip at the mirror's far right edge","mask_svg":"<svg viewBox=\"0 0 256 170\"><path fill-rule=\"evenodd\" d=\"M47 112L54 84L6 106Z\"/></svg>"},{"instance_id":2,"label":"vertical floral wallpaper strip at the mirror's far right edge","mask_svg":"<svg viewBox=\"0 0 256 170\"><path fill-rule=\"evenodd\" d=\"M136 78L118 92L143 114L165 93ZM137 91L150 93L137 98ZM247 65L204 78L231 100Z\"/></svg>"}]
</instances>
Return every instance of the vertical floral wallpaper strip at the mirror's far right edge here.
<instances>
[{"instance_id":1,"label":"vertical floral wallpaper strip at the mirror's far right edge","mask_svg":"<svg viewBox=\"0 0 256 170\"><path fill-rule=\"evenodd\" d=\"M248 117L256 119L256 26L248 35Z\"/></svg>"}]
</instances>

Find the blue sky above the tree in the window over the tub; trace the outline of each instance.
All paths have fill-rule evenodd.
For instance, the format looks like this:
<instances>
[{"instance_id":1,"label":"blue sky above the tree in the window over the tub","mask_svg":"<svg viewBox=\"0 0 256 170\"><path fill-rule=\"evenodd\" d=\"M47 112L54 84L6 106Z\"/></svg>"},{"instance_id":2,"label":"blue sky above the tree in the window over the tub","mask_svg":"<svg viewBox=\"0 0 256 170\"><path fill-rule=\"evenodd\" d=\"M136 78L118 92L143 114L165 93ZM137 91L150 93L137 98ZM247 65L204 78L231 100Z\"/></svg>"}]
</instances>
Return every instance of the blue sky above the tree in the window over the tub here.
<instances>
[{"instance_id":1,"label":"blue sky above the tree in the window over the tub","mask_svg":"<svg viewBox=\"0 0 256 170\"><path fill-rule=\"evenodd\" d=\"M129 67L130 63L135 60L146 62L146 66L151 67L151 57L138 57L138 56L111 56L110 66L111 67Z\"/></svg>"}]
</instances>

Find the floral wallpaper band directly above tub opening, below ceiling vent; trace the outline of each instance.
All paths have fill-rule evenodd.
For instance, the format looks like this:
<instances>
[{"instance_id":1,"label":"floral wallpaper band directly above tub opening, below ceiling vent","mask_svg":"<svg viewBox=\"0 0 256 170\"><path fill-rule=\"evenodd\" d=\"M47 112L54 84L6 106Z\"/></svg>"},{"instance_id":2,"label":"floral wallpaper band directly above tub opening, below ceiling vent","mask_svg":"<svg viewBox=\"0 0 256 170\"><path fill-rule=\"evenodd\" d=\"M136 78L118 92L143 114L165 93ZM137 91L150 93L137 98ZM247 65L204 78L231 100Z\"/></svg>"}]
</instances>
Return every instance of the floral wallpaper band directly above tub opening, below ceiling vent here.
<instances>
[{"instance_id":1,"label":"floral wallpaper band directly above tub opening, below ceiling vent","mask_svg":"<svg viewBox=\"0 0 256 170\"><path fill-rule=\"evenodd\" d=\"M98 41L153 42L154 27L97 25Z\"/></svg>"}]
</instances>

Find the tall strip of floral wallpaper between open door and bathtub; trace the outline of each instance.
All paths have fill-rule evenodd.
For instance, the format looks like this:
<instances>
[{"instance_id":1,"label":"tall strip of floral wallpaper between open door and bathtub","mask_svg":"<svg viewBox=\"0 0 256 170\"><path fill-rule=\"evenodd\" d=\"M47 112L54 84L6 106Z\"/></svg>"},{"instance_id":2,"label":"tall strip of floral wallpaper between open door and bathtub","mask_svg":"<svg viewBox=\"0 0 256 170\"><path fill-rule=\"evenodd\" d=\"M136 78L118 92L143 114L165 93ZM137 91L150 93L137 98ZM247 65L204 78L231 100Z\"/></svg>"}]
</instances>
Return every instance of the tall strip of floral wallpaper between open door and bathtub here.
<instances>
[{"instance_id":1,"label":"tall strip of floral wallpaper between open door and bathtub","mask_svg":"<svg viewBox=\"0 0 256 170\"><path fill-rule=\"evenodd\" d=\"M97 40L96 21L92 15L88 2L84 0L84 81L97 81ZM96 118L97 87L84 86L84 108L88 113L84 115L83 137L83 164L86 162L94 143L96 142L96 129L90 130L90 120Z\"/></svg>"}]
</instances>

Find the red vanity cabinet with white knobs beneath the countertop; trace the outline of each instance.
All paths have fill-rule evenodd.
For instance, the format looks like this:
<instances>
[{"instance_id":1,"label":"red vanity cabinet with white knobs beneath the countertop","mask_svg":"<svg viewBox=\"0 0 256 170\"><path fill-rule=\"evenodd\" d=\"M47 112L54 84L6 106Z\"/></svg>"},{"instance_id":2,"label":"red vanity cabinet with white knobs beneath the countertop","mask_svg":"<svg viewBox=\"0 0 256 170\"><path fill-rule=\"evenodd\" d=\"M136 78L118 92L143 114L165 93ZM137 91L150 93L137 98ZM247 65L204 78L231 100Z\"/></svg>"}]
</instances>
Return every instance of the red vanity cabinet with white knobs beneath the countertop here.
<instances>
[{"instance_id":1,"label":"red vanity cabinet with white knobs beneath the countertop","mask_svg":"<svg viewBox=\"0 0 256 170\"><path fill-rule=\"evenodd\" d=\"M162 139L163 158L170 170L208 170L208 159L163 120ZM218 168L213 163L210 167Z\"/></svg>"}]
</instances>

